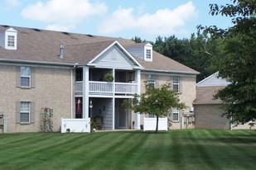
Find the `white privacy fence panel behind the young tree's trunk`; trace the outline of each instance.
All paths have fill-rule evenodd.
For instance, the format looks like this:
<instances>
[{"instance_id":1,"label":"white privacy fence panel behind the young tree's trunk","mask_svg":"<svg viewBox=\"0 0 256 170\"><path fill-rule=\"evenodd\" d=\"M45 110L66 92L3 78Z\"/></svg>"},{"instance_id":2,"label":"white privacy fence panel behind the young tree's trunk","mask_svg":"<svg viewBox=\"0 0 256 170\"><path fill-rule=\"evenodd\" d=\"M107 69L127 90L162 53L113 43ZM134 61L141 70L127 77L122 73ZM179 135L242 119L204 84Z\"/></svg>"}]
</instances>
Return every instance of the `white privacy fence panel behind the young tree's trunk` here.
<instances>
[{"instance_id":1,"label":"white privacy fence panel behind the young tree's trunk","mask_svg":"<svg viewBox=\"0 0 256 170\"><path fill-rule=\"evenodd\" d=\"M143 130L156 130L157 118L146 118L144 117L144 127ZM168 118L158 119L158 130L168 130Z\"/></svg>"}]
</instances>

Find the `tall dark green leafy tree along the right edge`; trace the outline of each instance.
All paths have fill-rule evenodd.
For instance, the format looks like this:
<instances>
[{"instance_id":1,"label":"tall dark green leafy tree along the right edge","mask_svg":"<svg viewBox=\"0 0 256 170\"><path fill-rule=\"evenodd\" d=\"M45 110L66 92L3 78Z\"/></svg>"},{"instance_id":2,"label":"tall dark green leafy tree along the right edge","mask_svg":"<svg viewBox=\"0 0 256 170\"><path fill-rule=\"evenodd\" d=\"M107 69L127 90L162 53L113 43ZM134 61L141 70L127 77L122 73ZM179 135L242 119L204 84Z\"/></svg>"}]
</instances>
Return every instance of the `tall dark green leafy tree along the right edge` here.
<instances>
[{"instance_id":1,"label":"tall dark green leafy tree along the right edge","mask_svg":"<svg viewBox=\"0 0 256 170\"><path fill-rule=\"evenodd\" d=\"M256 0L233 0L233 4L210 4L211 15L232 18L234 26L198 26L215 38L222 38L219 75L229 85L215 97L223 101L225 116L236 123L256 119Z\"/></svg>"}]
</instances>

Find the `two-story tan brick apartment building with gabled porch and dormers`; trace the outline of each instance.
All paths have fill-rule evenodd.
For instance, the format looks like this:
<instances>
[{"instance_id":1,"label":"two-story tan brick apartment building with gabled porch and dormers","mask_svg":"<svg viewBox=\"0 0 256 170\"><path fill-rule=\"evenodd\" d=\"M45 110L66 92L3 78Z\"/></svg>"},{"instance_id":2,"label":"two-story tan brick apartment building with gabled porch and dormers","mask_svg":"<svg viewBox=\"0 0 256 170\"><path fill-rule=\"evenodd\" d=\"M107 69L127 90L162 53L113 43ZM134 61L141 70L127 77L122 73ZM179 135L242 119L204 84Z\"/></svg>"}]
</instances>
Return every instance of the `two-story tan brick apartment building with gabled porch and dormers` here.
<instances>
[{"instance_id":1,"label":"two-story tan brick apartment building with gabled porch and dormers","mask_svg":"<svg viewBox=\"0 0 256 170\"><path fill-rule=\"evenodd\" d=\"M113 82L104 80L107 73ZM192 106L196 74L153 51L149 43L0 26L0 113L5 132L59 131L61 118L96 116L103 117L104 130L139 129L145 115L126 111L124 99L144 92L145 80L154 87L171 82L181 102ZM170 129L180 129L181 111L173 109L170 116Z\"/></svg>"}]
</instances>

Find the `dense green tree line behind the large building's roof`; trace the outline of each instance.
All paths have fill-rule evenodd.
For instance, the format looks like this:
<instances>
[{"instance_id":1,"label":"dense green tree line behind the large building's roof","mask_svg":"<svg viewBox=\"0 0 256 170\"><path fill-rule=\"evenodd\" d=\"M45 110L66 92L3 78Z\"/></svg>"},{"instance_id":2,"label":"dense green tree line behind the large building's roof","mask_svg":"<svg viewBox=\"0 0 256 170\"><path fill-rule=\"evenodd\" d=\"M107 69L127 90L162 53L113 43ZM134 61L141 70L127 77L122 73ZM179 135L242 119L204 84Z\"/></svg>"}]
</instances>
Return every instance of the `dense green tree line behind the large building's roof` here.
<instances>
[{"instance_id":1,"label":"dense green tree line behind the large building's roof","mask_svg":"<svg viewBox=\"0 0 256 170\"><path fill-rule=\"evenodd\" d=\"M147 42L138 36L132 40L136 43ZM190 38L183 39L178 39L175 35L157 36L156 41L150 43L158 53L200 72L196 78L197 82L218 71L215 63L220 58L221 40L214 40L200 31L191 34Z\"/></svg>"}]
</instances>

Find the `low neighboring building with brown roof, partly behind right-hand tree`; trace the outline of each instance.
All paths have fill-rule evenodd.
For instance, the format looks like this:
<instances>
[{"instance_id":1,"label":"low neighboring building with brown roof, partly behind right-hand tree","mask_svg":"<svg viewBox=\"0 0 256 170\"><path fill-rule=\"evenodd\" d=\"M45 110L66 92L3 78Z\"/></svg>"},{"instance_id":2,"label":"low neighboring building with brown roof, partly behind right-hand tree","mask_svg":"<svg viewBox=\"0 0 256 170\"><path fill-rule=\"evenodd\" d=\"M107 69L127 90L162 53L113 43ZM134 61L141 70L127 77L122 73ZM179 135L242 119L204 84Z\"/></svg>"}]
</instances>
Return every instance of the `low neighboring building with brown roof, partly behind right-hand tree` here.
<instances>
[{"instance_id":1,"label":"low neighboring building with brown roof, partly behind right-hand tree","mask_svg":"<svg viewBox=\"0 0 256 170\"><path fill-rule=\"evenodd\" d=\"M222 103L215 99L215 93L229 83L219 78L219 72L210 75L196 83L196 100L193 103L195 111L196 129L249 129L249 125L232 125L220 109Z\"/></svg>"}]
</instances>

